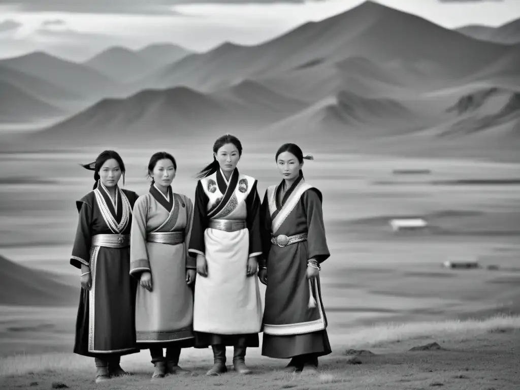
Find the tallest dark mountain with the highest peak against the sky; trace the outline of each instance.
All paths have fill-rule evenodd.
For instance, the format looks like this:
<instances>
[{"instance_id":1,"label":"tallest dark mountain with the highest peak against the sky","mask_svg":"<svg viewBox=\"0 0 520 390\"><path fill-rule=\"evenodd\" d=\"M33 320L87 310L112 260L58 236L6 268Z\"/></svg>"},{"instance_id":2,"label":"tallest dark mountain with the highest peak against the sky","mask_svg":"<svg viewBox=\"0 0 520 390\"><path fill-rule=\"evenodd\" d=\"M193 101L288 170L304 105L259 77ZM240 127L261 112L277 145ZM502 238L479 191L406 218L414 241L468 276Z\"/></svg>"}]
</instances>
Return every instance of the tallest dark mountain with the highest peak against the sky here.
<instances>
[{"instance_id":1,"label":"tallest dark mountain with the highest peak against the sky","mask_svg":"<svg viewBox=\"0 0 520 390\"><path fill-rule=\"evenodd\" d=\"M139 80L134 88L183 84L213 92L237 78L265 79L309 64L316 66L317 59L321 64L348 57L413 65L432 77L457 79L485 68L507 50L507 46L478 41L420 17L365 2L261 45L227 42L207 53L191 54Z\"/></svg>"}]
</instances>

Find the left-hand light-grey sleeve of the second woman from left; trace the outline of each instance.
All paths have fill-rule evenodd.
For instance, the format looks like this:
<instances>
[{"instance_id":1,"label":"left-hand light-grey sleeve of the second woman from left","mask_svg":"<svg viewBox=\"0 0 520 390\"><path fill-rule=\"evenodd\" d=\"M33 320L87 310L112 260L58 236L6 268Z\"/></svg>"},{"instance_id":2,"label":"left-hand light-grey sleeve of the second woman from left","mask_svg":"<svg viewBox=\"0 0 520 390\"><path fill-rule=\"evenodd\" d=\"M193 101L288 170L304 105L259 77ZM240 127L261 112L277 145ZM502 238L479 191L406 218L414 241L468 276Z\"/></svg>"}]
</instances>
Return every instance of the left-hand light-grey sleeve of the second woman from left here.
<instances>
[{"instance_id":1,"label":"left-hand light-grey sleeve of the second woman from left","mask_svg":"<svg viewBox=\"0 0 520 390\"><path fill-rule=\"evenodd\" d=\"M150 271L146 248L146 223L148 220L148 197L137 199L134 204L130 230L130 275L139 278L141 272Z\"/></svg>"}]
</instances>

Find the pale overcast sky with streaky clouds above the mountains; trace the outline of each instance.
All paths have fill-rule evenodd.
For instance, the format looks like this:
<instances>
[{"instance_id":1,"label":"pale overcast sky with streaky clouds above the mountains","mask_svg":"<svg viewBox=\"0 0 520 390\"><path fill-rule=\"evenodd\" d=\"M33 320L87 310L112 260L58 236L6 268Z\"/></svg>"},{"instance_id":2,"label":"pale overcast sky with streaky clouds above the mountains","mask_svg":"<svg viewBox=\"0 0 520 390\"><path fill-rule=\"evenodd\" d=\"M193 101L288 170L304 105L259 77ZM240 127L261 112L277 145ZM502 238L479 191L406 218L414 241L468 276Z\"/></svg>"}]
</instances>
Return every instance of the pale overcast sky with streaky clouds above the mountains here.
<instances>
[{"instance_id":1,"label":"pale overcast sky with streaky clouds above the mountains","mask_svg":"<svg viewBox=\"0 0 520 390\"><path fill-rule=\"evenodd\" d=\"M446 28L520 18L520 0L378 0ZM189 3L189 4L186 4ZM33 50L82 60L112 45L207 50L255 44L363 0L0 0L0 56Z\"/></svg>"}]
</instances>

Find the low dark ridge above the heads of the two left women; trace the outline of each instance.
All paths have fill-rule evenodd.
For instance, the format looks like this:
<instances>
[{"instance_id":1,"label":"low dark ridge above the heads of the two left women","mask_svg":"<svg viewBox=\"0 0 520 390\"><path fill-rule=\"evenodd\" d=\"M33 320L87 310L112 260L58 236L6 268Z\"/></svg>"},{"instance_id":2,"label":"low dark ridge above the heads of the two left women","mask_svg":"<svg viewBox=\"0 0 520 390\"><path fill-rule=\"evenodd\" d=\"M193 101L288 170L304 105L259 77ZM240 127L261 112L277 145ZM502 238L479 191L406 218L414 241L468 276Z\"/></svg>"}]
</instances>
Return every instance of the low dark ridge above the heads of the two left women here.
<instances>
[{"instance_id":1,"label":"low dark ridge above the heads of the two left women","mask_svg":"<svg viewBox=\"0 0 520 390\"><path fill-rule=\"evenodd\" d=\"M82 112L34 134L32 140L95 142L126 139L153 142L157 137L203 137L208 131L250 123L229 101L187 87L147 89L125 99L103 99Z\"/></svg>"}]
</instances>

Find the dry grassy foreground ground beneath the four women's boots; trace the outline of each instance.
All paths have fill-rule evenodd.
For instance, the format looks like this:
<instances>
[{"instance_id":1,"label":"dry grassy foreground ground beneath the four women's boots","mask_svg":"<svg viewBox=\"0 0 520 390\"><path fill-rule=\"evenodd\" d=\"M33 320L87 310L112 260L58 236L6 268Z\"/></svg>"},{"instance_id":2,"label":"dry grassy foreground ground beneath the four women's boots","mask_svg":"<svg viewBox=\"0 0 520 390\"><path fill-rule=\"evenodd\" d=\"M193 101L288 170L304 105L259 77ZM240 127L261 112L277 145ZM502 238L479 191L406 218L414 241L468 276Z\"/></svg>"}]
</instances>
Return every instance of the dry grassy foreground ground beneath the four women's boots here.
<instances>
[{"instance_id":1,"label":"dry grassy foreground ground beneath the four women's boots","mask_svg":"<svg viewBox=\"0 0 520 390\"><path fill-rule=\"evenodd\" d=\"M122 366L131 376L106 384L93 382L93 361L73 354L17 355L0 360L0 380L8 388L28 386L48 389L61 382L78 390L111 389L420 389L449 386L453 390L515 389L514 361L520 353L520 317L498 316L486 320L389 324L356 329L333 337L332 355L321 359L317 376L278 371L284 361L259 356L250 349L248 363L254 374L240 376L230 371L218 378L204 375L211 363L210 350L185 350L181 364L192 370L183 376L150 381L151 364L146 352L123 357ZM420 341L419 341L420 340ZM412 346L436 341L444 350L408 352ZM348 363L347 348L371 348L375 355L362 355L361 365ZM516 360L514 360L516 359ZM36 384L37 383L37 384ZM488 387L482 387L489 383ZM493 384L494 383L494 384ZM31 385L32 384L32 385ZM477 387L471 387L477 386Z\"/></svg>"}]
</instances>

